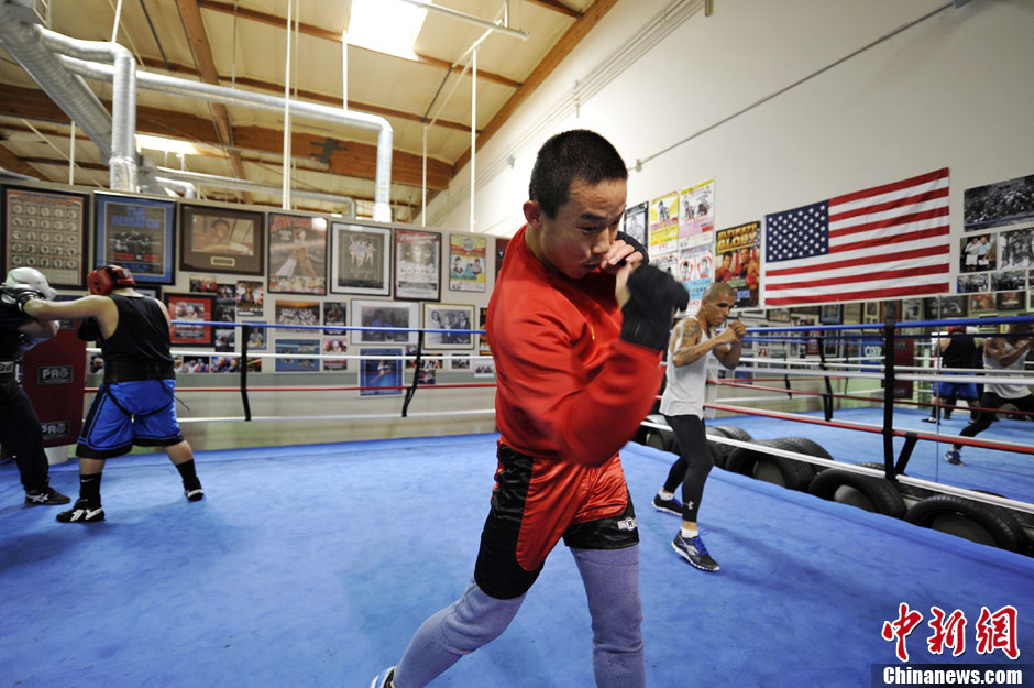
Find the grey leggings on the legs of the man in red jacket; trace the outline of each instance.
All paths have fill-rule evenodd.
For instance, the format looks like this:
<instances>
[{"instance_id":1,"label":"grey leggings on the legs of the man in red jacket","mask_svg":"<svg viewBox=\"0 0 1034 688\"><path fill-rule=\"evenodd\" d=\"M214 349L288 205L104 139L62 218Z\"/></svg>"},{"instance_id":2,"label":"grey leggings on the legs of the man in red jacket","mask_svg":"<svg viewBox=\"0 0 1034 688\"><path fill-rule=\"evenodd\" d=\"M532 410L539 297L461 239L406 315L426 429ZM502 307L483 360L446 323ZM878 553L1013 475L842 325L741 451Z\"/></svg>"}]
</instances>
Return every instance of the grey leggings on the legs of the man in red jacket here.
<instances>
[{"instance_id":1,"label":"grey leggings on the legs of the man in red jacket","mask_svg":"<svg viewBox=\"0 0 1034 688\"><path fill-rule=\"evenodd\" d=\"M588 598L596 686L646 686L639 545L623 549L572 547L571 553ZM395 688L422 688L463 655L494 641L513 621L526 594L498 600L472 579L459 600L417 630L395 669Z\"/></svg>"}]
</instances>

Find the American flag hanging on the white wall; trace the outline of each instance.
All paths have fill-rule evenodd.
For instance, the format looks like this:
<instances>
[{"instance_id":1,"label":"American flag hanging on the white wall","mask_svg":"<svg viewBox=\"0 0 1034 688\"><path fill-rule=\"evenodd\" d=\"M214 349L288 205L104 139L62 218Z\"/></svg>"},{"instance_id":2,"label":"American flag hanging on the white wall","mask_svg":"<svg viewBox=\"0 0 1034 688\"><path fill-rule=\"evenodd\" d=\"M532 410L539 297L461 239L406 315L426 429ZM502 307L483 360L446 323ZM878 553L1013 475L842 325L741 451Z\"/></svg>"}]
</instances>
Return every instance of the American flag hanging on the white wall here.
<instances>
[{"instance_id":1,"label":"American flag hanging on the white wall","mask_svg":"<svg viewBox=\"0 0 1034 688\"><path fill-rule=\"evenodd\" d=\"M765 216L766 306L949 290L948 170Z\"/></svg>"}]
</instances>

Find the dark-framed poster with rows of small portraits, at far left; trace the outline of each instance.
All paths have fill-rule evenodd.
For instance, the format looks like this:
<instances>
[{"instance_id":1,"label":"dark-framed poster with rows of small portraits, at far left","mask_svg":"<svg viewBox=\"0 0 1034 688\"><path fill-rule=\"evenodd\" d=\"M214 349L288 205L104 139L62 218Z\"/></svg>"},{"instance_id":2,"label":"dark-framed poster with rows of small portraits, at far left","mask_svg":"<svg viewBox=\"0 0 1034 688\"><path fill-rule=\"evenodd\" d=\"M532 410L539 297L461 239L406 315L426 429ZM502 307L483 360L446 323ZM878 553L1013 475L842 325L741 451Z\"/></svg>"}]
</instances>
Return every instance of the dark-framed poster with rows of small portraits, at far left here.
<instances>
[{"instance_id":1,"label":"dark-framed poster with rows of small portraits, at far left","mask_svg":"<svg viewBox=\"0 0 1034 688\"><path fill-rule=\"evenodd\" d=\"M89 204L86 194L3 187L3 274L35 267L46 274L51 286L84 288Z\"/></svg>"}]
</instances>

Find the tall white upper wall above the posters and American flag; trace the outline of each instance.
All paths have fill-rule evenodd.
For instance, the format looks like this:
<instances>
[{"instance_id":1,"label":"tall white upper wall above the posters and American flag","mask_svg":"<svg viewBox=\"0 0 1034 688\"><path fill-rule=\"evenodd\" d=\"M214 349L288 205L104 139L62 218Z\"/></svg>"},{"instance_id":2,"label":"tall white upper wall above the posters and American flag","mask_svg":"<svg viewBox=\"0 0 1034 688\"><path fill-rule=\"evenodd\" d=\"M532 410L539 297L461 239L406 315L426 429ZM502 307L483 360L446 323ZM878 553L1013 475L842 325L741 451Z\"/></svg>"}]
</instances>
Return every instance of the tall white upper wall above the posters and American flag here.
<instances>
[{"instance_id":1,"label":"tall white upper wall above the posters and American flag","mask_svg":"<svg viewBox=\"0 0 1034 688\"><path fill-rule=\"evenodd\" d=\"M629 205L715 177L719 229L948 166L953 232L960 234L965 188L1034 173L1034 3L714 6L705 17L697 0L619 1L479 151L475 229L516 231L537 148L573 127L606 135L629 166L647 161L631 172ZM661 12L669 19L654 24L670 33L630 64L614 59L635 52L637 37L662 33L649 29ZM624 72L612 69L575 113L575 80L608 59ZM513 168L507 155L516 157ZM461 170L432 201L433 225L469 227L469 174Z\"/></svg>"}]
</instances>

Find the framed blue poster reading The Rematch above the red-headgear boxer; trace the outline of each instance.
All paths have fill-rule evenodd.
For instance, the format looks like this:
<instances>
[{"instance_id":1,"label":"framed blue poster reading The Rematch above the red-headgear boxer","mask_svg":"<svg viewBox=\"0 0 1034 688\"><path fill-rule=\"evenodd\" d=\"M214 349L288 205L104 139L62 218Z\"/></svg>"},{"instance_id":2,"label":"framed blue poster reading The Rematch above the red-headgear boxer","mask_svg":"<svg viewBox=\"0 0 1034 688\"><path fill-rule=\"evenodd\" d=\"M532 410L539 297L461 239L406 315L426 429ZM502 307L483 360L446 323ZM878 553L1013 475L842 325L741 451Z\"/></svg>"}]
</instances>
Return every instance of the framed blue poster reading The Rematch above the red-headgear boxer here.
<instances>
[{"instance_id":1,"label":"framed blue poster reading The Rematch above the red-headgear boxer","mask_svg":"<svg viewBox=\"0 0 1034 688\"><path fill-rule=\"evenodd\" d=\"M173 284L172 200L96 193L94 262L121 265L136 282Z\"/></svg>"}]
</instances>

